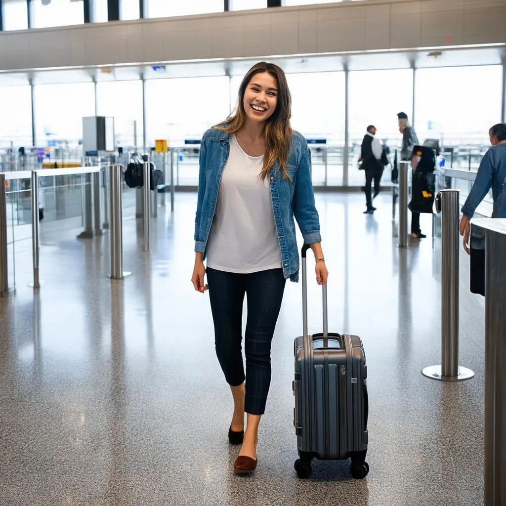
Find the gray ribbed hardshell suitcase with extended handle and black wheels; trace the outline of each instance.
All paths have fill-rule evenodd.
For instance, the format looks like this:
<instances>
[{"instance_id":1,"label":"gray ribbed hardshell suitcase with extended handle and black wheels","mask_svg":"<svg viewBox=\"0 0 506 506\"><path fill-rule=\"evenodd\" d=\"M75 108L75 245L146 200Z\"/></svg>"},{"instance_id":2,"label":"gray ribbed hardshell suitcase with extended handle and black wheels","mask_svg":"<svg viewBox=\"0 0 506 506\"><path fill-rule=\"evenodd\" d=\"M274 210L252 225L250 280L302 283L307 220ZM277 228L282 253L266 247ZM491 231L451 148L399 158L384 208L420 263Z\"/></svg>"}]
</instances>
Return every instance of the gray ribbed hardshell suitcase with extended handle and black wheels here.
<instances>
[{"instance_id":1,"label":"gray ribbed hardshell suitcase with extended handle and black wheels","mask_svg":"<svg viewBox=\"0 0 506 506\"><path fill-rule=\"evenodd\" d=\"M365 478L367 453L367 367L361 339L357 335L327 330L327 287L323 285L323 333L308 334L306 252L302 248L303 335L296 338L295 409L300 478L311 475L313 458L351 458L354 478Z\"/></svg>"}]
</instances>

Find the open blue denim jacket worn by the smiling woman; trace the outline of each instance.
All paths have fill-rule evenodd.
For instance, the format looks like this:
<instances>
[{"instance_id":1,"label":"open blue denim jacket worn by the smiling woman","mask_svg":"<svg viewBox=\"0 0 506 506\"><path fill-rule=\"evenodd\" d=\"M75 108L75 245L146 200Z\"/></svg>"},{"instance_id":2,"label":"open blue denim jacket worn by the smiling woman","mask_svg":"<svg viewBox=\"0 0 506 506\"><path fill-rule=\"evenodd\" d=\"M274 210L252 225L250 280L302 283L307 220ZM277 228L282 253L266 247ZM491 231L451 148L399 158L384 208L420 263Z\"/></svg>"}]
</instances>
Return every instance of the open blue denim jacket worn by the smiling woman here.
<instances>
[{"instance_id":1,"label":"open blue denim jacket worn by the smiling woman","mask_svg":"<svg viewBox=\"0 0 506 506\"><path fill-rule=\"evenodd\" d=\"M230 135L217 129L208 130L200 143L200 171L195 216L195 251L204 253L218 201L221 177L230 152ZM282 178L276 161L269 172L274 222L281 250L285 279L299 280L299 251L293 217L297 220L304 242L320 242L320 221L315 207L311 180L311 155L306 139L293 132L287 172L292 181Z\"/></svg>"}]
</instances>

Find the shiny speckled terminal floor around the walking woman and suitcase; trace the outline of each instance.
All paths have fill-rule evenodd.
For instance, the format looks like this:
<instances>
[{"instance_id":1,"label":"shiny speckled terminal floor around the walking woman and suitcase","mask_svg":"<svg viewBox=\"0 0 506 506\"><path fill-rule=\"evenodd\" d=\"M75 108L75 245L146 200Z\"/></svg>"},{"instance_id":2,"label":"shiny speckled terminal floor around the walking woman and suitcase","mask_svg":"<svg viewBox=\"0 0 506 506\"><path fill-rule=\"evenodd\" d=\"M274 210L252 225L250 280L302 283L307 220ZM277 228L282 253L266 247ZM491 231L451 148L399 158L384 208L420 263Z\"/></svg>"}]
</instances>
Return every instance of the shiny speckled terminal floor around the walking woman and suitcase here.
<instances>
[{"instance_id":1,"label":"shiny speckled terminal floor around the walking woman and suitcase","mask_svg":"<svg viewBox=\"0 0 506 506\"><path fill-rule=\"evenodd\" d=\"M272 384L259 467L235 476L229 389L214 353L207 294L193 290L196 195L153 220L123 225L124 269L111 281L108 235L42 229L40 290L31 253L16 258L16 292L0 299L0 504L483 504L484 301L469 292L460 256L460 365L471 381L439 383L440 251L429 238L399 250L391 200L373 216L363 195L317 194L329 278L329 329L364 342L370 398L370 473L314 462L297 478L292 427L293 338L301 287L288 283L273 341ZM168 201L168 199L167 199ZM430 222L422 219L430 235ZM312 264L311 264L312 265ZM310 268L312 269L312 267ZM311 272L311 271L310 271ZM321 328L321 288L309 290Z\"/></svg>"}]
</instances>

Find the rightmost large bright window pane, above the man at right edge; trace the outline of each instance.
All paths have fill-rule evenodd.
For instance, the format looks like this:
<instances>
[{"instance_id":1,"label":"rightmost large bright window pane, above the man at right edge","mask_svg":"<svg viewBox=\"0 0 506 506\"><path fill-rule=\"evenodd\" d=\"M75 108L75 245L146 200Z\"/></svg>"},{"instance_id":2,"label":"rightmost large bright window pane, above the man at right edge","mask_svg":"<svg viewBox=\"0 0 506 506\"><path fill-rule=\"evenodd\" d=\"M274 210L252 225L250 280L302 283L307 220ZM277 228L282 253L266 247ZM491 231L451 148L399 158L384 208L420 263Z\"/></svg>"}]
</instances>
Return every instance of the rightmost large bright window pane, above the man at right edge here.
<instances>
[{"instance_id":1,"label":"rightmost large bright window pane, above the man at right edge","mask_svg":"<svg viewBox=\"0 0 506 506\"><path fill-rule=\"evenodd\" d=\"M501 119L500 65L425 68L416 71L415 130L420 142L489 143Z\"/></svg>"}]
</instances>

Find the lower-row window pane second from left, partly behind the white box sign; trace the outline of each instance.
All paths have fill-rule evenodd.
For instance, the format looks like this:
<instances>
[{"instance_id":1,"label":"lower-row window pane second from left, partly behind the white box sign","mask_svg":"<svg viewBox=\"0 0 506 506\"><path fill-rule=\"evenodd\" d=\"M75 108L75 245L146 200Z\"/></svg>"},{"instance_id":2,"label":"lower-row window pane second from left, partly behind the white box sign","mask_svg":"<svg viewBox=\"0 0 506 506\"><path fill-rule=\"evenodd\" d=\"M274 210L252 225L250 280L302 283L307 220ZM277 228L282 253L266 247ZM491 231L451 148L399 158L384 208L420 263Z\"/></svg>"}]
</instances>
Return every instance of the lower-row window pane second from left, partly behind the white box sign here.
<instances>
[{"instance_id":1,"label":"lower-row window pane second from left, partly behind the white box sign","mask_svg":"<svg viewBox=\"0 0 506 506\"><path fill-rule=\"evenodd\" d=\"M36 85L34 93L37 145L47 146L49 141L77 145L82 139L82 118L95 115L93 82Z\"/></svg>"}]
</instances>

